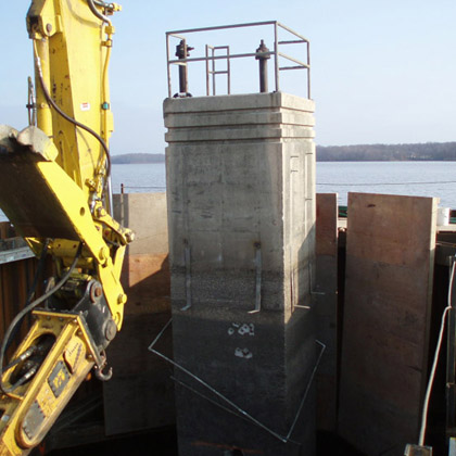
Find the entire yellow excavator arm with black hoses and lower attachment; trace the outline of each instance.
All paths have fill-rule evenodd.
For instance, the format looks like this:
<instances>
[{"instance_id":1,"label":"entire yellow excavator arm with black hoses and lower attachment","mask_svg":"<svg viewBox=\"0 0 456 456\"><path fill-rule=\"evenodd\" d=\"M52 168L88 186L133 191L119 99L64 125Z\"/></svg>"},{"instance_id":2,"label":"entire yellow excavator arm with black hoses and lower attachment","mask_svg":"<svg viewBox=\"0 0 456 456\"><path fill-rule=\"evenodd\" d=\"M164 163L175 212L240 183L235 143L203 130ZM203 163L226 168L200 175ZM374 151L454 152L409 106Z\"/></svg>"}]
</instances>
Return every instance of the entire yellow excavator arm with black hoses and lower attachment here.
<instances>
[{"instance_id":1,"label":"entire yellow excavator arm with black hoses and lower attachment","mask_svg":"<svg viewBox=\"0 0 456 456\"><path fill-rule=\"evenodd\" d=\"M39 444L122 327L128 229L112 218L107 66L115 3L34 0L27 13L36 96L30 125L0 126L0 207L54 277L7 331L0 352L0 455ZM31 86L31 85L30 85ZM36 124L36 125L35 125ZM34 301L33 301L34 300ZM24 316L34 324L11 359Z\"/></svg>"}]
</instances>

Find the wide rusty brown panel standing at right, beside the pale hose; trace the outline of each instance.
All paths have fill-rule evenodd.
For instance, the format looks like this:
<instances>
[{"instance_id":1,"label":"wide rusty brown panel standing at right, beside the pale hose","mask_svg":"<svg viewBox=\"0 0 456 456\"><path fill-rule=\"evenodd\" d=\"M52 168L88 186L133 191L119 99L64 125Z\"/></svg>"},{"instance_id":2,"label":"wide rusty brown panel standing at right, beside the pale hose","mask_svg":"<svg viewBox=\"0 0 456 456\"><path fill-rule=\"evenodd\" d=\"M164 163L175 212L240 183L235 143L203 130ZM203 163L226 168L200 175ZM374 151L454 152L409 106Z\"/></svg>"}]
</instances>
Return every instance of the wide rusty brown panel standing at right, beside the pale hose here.
<instances>
[{"instance_id":1,"label":"wide rusty brown panel standing at right, beside the pale hose","mask_svg":"<svg viewBox=\"0 0 456 456\"><path fill-rule=\"evenodd\" d=\"M339 431L368 455L418 438L436 203L349 193Z\"/></svg>"}]
</instances>

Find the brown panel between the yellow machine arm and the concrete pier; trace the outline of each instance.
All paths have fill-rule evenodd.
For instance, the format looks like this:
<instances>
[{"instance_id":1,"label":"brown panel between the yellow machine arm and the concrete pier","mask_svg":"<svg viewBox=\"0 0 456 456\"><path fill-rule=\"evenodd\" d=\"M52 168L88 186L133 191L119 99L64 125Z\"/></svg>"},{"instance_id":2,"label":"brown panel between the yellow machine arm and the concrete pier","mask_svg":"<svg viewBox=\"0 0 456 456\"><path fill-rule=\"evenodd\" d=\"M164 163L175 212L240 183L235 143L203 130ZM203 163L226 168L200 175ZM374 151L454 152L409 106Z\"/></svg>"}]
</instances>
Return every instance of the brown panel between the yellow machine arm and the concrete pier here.
<instances>
[{"instance_id":1,"label":"brown panel between the yellow machine arm and the concrete pier","mask_svg":"<svg viewBox=\"0 0 456 456\"><path fill-rule=\"evenodd\" d=\"M103 383L107 435L174 425L174 384L169 367L148 351L170 318L165 193L114 195L114 215L131 228L122 283L128 296L122 331L107 347L114 376ZM170 356L170 334L162 351Z\"/></svg>"}]
</instances>

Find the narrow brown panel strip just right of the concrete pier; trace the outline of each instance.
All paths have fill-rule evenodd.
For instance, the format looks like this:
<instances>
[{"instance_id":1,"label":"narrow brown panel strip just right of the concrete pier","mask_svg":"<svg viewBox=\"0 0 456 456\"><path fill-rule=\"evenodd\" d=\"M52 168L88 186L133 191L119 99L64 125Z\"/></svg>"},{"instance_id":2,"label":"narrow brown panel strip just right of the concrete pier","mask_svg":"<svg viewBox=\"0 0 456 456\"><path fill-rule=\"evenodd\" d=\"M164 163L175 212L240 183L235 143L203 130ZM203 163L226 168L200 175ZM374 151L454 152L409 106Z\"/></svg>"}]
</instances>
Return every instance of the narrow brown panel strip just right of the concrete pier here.
<instances>
[{"instance_id":1,"label":"narrow brown panel strip just right of the concrete pier","mask_svg":"<svg viewBox=\"0 0 456 456\"><path fill-rule=\"evenodd\" d=\"M337 428L338 194L317 194L317 339L326 345L317 371L317 429Z\"/></svg>"}]
</instances>

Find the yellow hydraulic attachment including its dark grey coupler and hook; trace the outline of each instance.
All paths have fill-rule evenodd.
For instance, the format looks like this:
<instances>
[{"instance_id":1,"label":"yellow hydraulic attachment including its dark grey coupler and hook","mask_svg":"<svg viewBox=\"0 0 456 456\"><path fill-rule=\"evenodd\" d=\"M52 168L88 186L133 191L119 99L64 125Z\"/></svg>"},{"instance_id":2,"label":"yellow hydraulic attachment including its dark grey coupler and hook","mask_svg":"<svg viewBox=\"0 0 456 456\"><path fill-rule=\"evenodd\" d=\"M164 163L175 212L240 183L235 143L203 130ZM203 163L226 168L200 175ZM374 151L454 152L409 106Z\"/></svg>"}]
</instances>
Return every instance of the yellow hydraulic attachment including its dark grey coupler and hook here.
<instances>
[{"instance_id":1,"label":"yellow hydraulic attachment including its dark grey coupler and hook","mask_svg":"<svg viewBox=\"0 0 456 456\"><path fill-rule=\"evenodd\" d=\"M92 367L101 380L104 349L117 329L110 316L101 284L69 280L47 306L72 301L72 311L37 309L35 324L12 360L3 368L0 394L0 455L28 454L38 445ZM55 293L56 294L56 293Z\"/></svg>"}]
</instances>

